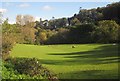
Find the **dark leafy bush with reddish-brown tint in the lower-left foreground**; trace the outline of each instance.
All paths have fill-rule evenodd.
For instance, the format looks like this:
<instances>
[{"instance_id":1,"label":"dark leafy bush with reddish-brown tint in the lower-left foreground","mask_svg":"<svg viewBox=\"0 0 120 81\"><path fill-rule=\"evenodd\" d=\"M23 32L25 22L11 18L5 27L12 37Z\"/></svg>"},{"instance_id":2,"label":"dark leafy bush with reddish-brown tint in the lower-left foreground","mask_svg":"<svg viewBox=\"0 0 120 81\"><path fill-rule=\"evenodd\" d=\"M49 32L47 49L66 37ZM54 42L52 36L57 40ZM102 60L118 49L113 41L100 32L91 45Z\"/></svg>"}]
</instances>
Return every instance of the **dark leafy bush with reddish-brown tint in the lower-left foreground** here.
<instances>
[{"instance_id":1,"label":"dark leafy bush with reddish-brown tint in the lower-left foreground","mask_svg":"<svg viewBox=\"0 0 120 81\"><path fill-rule=\"evenodd\" d=\"M41 73L42 65L37 61L37 59L19 59L14 60L15 69L21 74L29 74L34 76Z\"/></svg>"}]
</instances>

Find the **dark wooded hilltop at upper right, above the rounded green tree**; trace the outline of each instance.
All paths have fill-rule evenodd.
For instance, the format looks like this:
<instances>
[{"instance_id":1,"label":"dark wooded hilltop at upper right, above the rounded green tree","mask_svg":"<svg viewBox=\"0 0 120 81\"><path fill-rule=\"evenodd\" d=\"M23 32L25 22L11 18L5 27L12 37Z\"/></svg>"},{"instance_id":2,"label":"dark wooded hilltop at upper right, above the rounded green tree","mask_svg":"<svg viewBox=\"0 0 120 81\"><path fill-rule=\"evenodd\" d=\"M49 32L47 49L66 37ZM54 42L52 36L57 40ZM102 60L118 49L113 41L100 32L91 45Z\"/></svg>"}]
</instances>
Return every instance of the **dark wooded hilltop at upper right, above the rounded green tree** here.
<instances>
[{"instance_id":1,"label":"dark wooded hilltop at upper right, above the rounded green tree","mask_svg":"<svg viewBox=\"0 0 120 81\"><path fill-rule=\"evenodd\" d=\"M96 23L101 20L114 20L120 24L120 2L108 4L106 7L97 9L80 9L79 14L73 16L78 18L81 23Z\"/></svg>"}]
</instances>

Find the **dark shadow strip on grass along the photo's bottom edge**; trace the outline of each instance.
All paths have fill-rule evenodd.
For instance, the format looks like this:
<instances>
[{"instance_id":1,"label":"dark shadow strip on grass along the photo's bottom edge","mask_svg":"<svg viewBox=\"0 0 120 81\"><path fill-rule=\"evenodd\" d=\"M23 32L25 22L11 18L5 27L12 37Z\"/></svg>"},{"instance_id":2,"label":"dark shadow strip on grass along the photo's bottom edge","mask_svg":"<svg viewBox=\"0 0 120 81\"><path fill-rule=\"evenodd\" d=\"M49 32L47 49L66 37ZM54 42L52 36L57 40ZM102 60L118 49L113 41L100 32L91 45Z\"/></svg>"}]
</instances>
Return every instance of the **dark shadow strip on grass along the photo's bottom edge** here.
<instances>
[{"instance_id":1,"label":"dark shadow strip on grass along the photo's bottom edge","mask_svg":"<svg viewBox=\"0 0 120 81\"><path fill-rule=\"evenodd\" d=\"M118 72L109 70L75 71L59 74L60 79L118 79Z\"/></svg>"}]
</instances>

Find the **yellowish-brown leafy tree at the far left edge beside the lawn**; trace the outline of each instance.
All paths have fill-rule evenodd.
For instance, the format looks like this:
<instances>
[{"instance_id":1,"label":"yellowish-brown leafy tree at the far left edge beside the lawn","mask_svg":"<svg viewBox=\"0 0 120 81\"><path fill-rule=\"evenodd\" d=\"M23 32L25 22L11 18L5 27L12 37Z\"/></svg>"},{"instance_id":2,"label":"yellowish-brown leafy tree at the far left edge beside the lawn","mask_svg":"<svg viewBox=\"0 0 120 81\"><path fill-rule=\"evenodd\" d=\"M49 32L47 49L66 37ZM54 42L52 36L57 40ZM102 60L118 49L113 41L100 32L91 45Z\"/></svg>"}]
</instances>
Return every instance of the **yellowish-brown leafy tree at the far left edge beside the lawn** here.
<instances>
[{"instance_id":1,"label":"yellowish-brown leafy tree at the far left edge beside the lawn","mask_svg":"<svg viewBox=\"0 0 120 81\"><path fill-rule=\"evenodd\" d=\"M17 28L15 25L8 23L8 19L2 24L2 57L6 59L10 54L13 46L17 42Z\"/></svg>"}]
</instances>

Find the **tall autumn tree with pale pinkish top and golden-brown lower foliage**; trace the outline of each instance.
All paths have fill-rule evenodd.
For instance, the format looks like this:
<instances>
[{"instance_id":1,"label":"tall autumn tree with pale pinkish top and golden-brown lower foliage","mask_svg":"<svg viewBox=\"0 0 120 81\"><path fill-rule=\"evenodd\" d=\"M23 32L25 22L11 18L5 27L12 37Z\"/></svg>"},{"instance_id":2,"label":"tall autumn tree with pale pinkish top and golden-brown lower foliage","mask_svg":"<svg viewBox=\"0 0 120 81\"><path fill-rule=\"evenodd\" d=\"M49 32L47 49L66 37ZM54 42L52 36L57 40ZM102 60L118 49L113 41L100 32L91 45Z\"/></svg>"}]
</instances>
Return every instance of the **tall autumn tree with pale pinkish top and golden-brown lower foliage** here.
<instances>
[{"instance_id":1,"label":"tall autumn tree with pale pinkish top and golden-brown lower foliage","mask_svg":"<svg viewBox=\"0 0 120 81\"><path fill-rule=\"evenodd\" d=\"M35 42L35 22L31 15L17 15L16 24L20 27L20 43L34 44Z\"/></svg>"}]
</instances>

